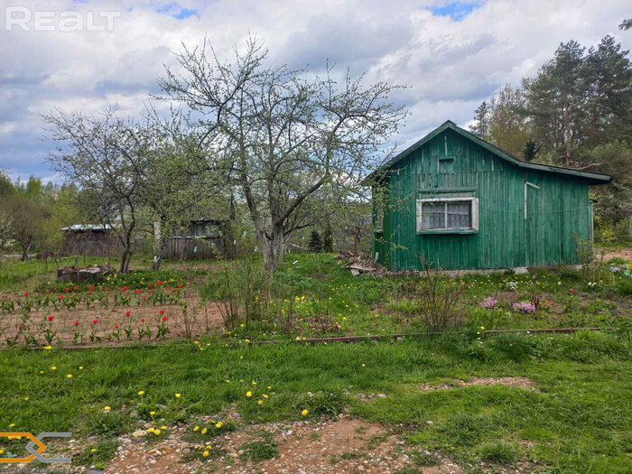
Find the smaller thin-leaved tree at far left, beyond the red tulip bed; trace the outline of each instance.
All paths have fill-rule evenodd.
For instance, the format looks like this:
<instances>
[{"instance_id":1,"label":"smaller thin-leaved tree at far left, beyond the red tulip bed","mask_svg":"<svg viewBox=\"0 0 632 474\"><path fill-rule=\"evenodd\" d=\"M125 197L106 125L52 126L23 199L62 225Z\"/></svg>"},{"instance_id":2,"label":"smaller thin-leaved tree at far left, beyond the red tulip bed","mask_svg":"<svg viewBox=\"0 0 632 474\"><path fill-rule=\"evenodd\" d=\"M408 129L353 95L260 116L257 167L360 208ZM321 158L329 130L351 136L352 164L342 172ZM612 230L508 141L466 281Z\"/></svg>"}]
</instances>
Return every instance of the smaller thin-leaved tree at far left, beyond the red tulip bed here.
<instances>
[{"instance_id":1,"label":"smaller thin-leaved tree at far left, beyond the red tulip bed","mask_svg":"<svg viewBox=\"0 0 632 474\"><path fill-rule=\"evenodd\" d=\"M152 134L107 107L96 116L52 109L40 114L57 145L50 161L57 172L79 184L79 200L114 228L123 246L119 271L133 253L133 235L142 203L144 166L152 153Z\"/></svg>"}]
</instances>

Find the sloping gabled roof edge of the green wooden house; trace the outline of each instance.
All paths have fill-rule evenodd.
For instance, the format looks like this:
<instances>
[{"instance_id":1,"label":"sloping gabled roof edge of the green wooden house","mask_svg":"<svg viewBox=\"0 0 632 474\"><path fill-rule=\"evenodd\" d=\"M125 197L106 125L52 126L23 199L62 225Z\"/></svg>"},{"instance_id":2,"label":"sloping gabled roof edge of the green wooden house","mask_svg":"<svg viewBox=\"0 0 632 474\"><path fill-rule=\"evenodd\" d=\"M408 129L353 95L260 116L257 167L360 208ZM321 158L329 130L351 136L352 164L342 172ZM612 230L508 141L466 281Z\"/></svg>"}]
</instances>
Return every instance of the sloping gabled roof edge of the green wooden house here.
<instances>
[{"instance_id":1,"label":"sloping gabled roof edge of the green wooden house","mask_svg":"<svg viewBox=\"0 0 632 474\"><path fill-rule=\"evenodd\" d=\"M377 173L386 171L395 163L398 163L401 160L403 160L409 153L414 152L414 150L416 150L417 148L419 148L426 142L432 140L432 138L434 138L435 136L440 135L441 132L447 129L451 129L457 134L462 135L465 138L468 138L472 142L479 144L480 146L488 150L488 152L494 153L494 155L496 155L498 158L506 160L509 163L513 163L520 168L537 170L540 172L555 172L559 174L566 174L566 175L574 176L576 178L581 178L581 179L590 181L591 184L607 184L610 181L612 181L612 176L610 176L609 174L602 173L602 172L584 172L581 170L574 170L572 168L565 168L563 166L554 166L552 164L525 162L525 160L521 160L516 155L506 152L502 148L497 147L495 144L490 144L489 142L486 142L482 138L479 138L477 135L474 135L468 132L467 130L456 125L451 120L446 120L439 127L432 130L430 134L425 135L421 140L419 140L415 144L412 144L411 146L406 148L402 153L398 153L397 155L395 155L395 157L391 159L389 162L384 163L382 166L377 168L374 172L371 172L367 176L367 179L365 180L365 182L370 181L371 179L374 179Z\"/></svg>"}]
</instances>

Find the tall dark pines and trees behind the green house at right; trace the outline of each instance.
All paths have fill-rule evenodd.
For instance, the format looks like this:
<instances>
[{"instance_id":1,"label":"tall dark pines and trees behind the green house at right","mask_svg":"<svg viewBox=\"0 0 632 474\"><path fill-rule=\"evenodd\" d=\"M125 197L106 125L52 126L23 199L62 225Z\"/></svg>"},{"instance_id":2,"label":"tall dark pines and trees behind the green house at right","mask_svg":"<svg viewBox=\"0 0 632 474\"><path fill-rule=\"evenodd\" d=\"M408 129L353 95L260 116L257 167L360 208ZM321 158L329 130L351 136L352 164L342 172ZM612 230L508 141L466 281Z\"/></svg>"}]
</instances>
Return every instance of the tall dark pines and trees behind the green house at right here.
<instances>
[{"instance_id":1,"label":"tall dark pines and trees behind the green house at right","mask_svg":"<svg viewBox=\"0 0 632 474\"><path fill-rule=\"evenodd\" d=\"M630 239L632 65L614 37L561 43L534 76L483 101L470 130L526 161L612 175L612 185L590 191L595 236Z\"/></svg>"}]
</instances>

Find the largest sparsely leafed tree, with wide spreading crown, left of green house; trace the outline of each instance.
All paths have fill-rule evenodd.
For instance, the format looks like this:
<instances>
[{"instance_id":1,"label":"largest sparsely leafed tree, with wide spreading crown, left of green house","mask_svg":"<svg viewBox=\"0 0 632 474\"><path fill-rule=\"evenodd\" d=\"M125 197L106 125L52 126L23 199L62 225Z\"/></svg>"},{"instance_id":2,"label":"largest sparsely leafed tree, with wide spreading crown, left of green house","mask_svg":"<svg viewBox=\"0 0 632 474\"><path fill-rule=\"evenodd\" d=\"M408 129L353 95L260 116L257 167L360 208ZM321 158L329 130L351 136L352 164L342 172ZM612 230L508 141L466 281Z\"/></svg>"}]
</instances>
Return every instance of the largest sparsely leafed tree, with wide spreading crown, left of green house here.
<instances>
[{"instance_id":1,"label":"largest sparsely leafed tree, with wide spreading crown, left of green house","mask_svg":"<svg viewBox=\"0 0 632 474\"><path fill-rule=\"evenodd\" d=\"M163 98L190 107L200 157L246 202L268 273L296 229L311 224L315 201L348 196L384 159L405 116L389 102L398 87L365 87L364 75L352 79L349 70L339 84L329 66L324 79L270 66L252 39L232 63L208 41L183 46L176 59L159 79Z\"/></svg>"}]
</instances>

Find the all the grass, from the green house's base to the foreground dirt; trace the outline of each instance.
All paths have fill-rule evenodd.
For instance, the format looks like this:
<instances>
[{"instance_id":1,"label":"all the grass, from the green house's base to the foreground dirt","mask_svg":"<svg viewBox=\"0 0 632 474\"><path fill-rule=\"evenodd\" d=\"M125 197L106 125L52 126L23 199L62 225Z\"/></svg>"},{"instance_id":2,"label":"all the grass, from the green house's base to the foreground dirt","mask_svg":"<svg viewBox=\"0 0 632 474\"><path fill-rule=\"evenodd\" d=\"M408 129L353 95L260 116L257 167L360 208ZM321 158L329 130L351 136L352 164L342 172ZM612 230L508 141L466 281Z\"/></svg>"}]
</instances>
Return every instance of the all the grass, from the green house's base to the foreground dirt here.
<instances>
[{"instance_id":1,"label":"all the grass, from the green house's base to the foreground dirt","mask_svg":"<svg viewBox=\"0 0 632 474\"><path fill-rule=\"evenodd\" d=\"M148 450L184 430L195 449L186 459L198 462L200 471L221 469L232 462L222 447L227 432L247 432L253 423L315 423L345 414L386 427L403 443L398 455L414 460L414 469L439 455L469 472L632 471L632 279L625 274L596 282L562 270L461 275L444 282L459 289L462 302L463 320L449 334L312 346L302 339L427 330L417 293L422 280L354 277L333 256L299 255L286 258L267 293L260 291L256 260L166 263L159 273L139 269L112 275L92 290L70 284L67 291L42 261L11 265L20 276L0 285L7 294L2 317L21 311L28 321L38 306L44 329L50 327L47 298L58 293L66 303L58 302L58 312L51 312L55 322L75 321L80 311L89 322L90 307L109 291L125 296L117 297L113 311L131 310L133 317L143 305L158 311L162 295L176 288L176 294L195 294L196 304L228 301L239 308L230 327L214 327L191 340L149 346L143 339L130 348L79 350L53 342L51 349L15 344L0 350L0 428L71 431L86 446L72 453L77 466L107 466L116 456L118 436L151 425L159 434L144 436ZM148 263L139 259L136 265ZM489 297L497 299L495 307L482 307ZM188 297L174 298L172 311L191 311ZM69 300L92 306L79 311ZM514 306L534 301L533 312ZM496 336L483 330L589 326L606 330ZM265 339L279 342L249 344ZM207 430L194 431L196 426ZM277 441L257 432L239 459L256 464L270 458L278 452ZM23 444L0 440L0 450L19 455ZM63 443L53 442L51 451L56 450L63 452ZM343 454L332 458L332 465L358 458Z\"/></svg>"}]
</instances>

